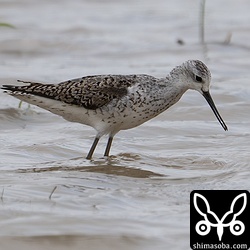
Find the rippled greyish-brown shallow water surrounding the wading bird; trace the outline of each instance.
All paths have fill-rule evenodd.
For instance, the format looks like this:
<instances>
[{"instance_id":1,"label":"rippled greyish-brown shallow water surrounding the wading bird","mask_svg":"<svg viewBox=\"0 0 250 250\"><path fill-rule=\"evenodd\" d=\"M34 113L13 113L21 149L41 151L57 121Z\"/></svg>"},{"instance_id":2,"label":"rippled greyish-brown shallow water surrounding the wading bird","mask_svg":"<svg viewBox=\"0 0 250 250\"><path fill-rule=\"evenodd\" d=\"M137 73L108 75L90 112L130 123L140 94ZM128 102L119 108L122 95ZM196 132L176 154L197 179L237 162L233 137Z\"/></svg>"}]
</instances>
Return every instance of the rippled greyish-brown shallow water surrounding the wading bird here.
<instances>
[{"instance_id":1,"label":"rippled greyish-brown shallow water surrounding the wading bird","mask_svg":"<svg viewBox=\"0 0 250 250\"><path fill-rule=\"evenodd\" d=\"M16 28L0 28L0 84L162 77L200 59L229 131L189 91L152 121L120 132L109 158L103 138L88 161L94 130L18 108L0 92L1 249L188 249L192 190L250 190L249 7L207 1L200 45L199 1L2 1L0 21Z\"/></svg>"}]
</instances>

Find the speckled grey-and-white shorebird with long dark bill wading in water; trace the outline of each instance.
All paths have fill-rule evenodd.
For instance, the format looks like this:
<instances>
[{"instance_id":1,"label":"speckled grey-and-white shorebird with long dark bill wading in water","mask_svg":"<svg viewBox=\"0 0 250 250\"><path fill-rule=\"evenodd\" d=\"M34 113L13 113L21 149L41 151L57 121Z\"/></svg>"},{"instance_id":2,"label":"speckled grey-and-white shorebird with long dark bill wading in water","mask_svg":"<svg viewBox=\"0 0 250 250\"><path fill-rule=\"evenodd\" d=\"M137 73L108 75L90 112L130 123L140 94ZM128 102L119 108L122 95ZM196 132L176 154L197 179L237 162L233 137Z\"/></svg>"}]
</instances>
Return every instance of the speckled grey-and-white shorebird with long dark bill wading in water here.
<instances>
[{"instance_id":1,"label":"speckled grey-and-white shorebird with long dark bill wading in water","mask_svg":"<svg viewBox=\"0 0 250 250\"><path fill-rule=\"evenodd\" d=\"M28 85L3 85L7 93L30 104L49 110L71 122L93 127L95 140L87 159L91 159L99 139L108 134L104 156L109 156L112 140L120 130L137 127L159 115L193 89L201 93L224 130L209 93L211 74L198 60L175 67L164 78L149 75L94 75L59 84L23 82Z\"/></svg>"}]
</instances>

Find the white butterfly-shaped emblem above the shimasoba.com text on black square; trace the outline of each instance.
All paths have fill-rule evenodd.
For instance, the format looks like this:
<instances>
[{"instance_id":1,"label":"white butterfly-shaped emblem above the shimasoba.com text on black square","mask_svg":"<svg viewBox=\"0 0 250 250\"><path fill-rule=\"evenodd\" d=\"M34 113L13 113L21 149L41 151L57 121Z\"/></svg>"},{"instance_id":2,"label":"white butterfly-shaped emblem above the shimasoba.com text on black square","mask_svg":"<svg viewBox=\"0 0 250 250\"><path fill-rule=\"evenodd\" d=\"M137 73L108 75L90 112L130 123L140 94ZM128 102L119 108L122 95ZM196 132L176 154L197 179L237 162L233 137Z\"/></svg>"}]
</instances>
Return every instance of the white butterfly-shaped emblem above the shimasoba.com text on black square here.
<instances>
[{"instance_id":1,"label":"white butterfly-shaped emblem above the shimasoba.com text on black square","mask_svg":"<svg viewBox=\"0 0 250 250\"><path fill-rule=\"evenodd\" d=\"M203 202L203 206L198 206L198 200L200 199L200 202ZM240 199L243 199L243 205L240 208L240 210L237 210L235 204L240 202ZM195 226L195 230L199 235L207 235L209 234L211 227L217 228L217 235L219 238L219 241L222 239L222 235L224 233L224 227L229 227L230 232L233 235L241 235L245 231L245 225L242 221L237 220L237 217L244 211L247 205L247 194L242 193L237 195L230 206L230 210L227 211L221 219L218 218L218 216L210 210L210 205L207 201L207 199L199 194L199 193L194 193L193 197L193 203L196 211L204 218L203 220L200 220L197 222ZM205 204L205 206L204 206ZM201 203L200 203L201 205ZM205 207L205 211L204 211ZM230 222L225 222L226 220L228 221L231 218Z\"/></svg>"}]
</instances>

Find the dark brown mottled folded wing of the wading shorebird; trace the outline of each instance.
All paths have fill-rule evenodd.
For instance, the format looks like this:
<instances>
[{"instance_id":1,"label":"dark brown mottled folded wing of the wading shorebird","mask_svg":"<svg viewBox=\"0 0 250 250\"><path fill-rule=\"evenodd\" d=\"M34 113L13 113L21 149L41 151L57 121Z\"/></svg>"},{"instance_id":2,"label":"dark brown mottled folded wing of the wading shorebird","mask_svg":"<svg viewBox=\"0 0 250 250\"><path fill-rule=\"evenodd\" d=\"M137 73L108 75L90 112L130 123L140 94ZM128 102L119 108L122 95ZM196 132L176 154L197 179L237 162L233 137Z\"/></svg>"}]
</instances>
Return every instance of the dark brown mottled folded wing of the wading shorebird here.
<instances>
[{"instance_id":1,"label":"dark brown mottled folded wing of the wading shorebird","mask_svg":"<svg viewBox=\"0 0 250 250\"><path fill-rule=\"evenodd\" d=\"M136 83L136 75L96 75L61 82L42 84L35 82L25 86L3 85L9 94L30 94L55 99L86 109L100 108L113 99L127 94L127 88ZM23 81L20 81L23 82Z\"/></svg>"}]
</instances>

